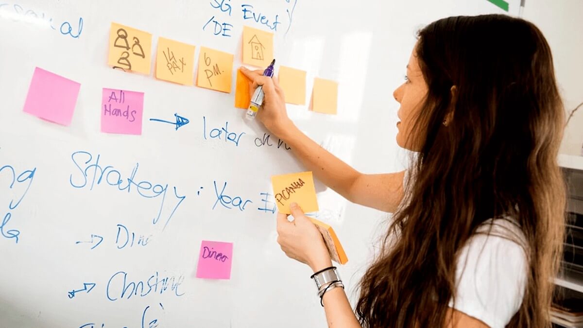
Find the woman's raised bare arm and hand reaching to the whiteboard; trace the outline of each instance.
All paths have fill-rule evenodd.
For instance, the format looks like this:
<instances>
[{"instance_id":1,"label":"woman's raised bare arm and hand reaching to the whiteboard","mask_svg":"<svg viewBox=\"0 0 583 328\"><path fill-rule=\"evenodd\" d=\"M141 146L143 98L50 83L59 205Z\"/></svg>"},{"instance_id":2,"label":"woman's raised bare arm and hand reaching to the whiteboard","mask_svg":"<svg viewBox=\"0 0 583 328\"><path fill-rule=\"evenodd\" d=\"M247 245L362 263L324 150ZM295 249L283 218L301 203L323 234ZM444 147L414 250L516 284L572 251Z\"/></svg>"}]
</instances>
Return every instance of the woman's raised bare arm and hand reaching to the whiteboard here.
<instances>
[{"instance_id":1,"label":"woman's raised bare arm and hand reaching to the whiteboard","mask_svg":"<svg viewBox=\"0 0 583 328\"><path fill-rule=\"evenodd\" d=\"M303 165L322 183L347 200L385 212L394 212L403 198L404 171L366 175L326 151L301 132L287 117L283 91L277 79L262 76L262 71L241 72L252 82L251 90L263 86L265 101L258 119L277 137L291 147Z\"/></svg>"}]
</instances>

